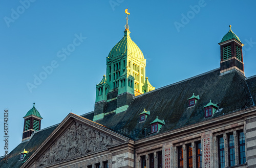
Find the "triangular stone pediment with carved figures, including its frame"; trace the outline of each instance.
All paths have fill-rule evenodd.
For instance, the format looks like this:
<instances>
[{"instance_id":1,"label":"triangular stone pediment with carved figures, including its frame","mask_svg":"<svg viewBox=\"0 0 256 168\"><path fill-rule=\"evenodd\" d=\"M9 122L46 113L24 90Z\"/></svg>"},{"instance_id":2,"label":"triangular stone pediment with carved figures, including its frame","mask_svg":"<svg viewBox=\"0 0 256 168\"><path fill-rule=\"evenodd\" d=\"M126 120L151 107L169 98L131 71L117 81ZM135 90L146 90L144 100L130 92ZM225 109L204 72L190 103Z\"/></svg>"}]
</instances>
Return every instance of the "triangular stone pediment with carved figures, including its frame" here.
<instances>
[{"instance_id":1,"label":"triangular stone pediment with carved figures, including its frame","mask_svg":"<svg viewBox=\"0 0 256 168\"><path fill-rule=\"evenodd\" d=\"M22 167L48 167L107 151L127 141L129 138L109 128L70 113Z\"/></svg>"}]
</instances>

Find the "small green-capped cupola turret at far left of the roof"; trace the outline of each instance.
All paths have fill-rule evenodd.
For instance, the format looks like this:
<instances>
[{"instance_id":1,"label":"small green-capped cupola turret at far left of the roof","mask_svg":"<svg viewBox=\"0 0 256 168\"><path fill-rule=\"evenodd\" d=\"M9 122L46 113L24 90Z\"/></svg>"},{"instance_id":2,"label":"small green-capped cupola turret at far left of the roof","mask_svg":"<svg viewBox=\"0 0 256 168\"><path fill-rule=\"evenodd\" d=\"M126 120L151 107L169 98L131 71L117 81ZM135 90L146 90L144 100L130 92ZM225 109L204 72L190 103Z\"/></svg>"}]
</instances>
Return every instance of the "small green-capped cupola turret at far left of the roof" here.
<instances>
[{"instance_id":1,"label":"small green-capped cupola turret at far left of the roof","mask_svg":"<svg viewBox=\"0 0 256 168\"><path fill-rule=\"evenodd\" d=\"M22 141L29 139L34 131L39 131L41 128L42 117L35 108L35 103L23 118L24 128Z\"/></svg>"}]
</instances>

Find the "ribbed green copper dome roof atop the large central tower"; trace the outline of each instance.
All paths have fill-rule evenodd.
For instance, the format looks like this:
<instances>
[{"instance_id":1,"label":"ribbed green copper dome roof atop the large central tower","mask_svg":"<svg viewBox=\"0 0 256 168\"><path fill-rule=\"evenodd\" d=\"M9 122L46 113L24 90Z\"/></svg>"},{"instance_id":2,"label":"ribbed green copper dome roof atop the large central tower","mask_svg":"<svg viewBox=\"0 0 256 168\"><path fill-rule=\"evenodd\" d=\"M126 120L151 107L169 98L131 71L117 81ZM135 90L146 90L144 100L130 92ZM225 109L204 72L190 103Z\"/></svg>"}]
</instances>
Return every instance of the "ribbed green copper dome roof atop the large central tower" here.
<instances>
[{"instance_id":1,"label":"ribbed green copper dome roof atop the large central tower","mask_svg":"<svg viewBox=\"0 0 256 168\"><path fill-rule=\"evenodd\" d=\"M131 32L129 30L124 31L123 38L110 51L110 54L108 56L109 58L118 57L120 55L131 55L133 57L144 60L143 53L141 52L137 44L131 39L130 33Z\"/></svg>"}]
</instances>

